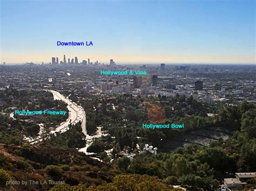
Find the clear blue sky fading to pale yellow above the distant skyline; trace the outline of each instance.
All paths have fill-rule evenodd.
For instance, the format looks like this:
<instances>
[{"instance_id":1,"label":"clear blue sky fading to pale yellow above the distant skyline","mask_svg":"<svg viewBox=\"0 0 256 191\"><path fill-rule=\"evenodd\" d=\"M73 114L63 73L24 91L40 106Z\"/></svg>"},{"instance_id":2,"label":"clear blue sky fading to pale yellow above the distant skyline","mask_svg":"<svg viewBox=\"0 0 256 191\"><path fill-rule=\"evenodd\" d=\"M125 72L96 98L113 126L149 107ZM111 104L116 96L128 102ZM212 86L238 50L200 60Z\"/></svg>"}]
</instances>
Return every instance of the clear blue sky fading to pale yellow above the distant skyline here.
<instances>
[{"instance_id":1,"label":"clear blue sky fading to pale yellow above the distant skyline","mask_svg":"<svg viewBox=\"0 0 256 191\"><path fill-rule=\"evenodd\" d=\"M1 63L255 63L254 0L0 2Z\"/></svg>"}]
</instances>

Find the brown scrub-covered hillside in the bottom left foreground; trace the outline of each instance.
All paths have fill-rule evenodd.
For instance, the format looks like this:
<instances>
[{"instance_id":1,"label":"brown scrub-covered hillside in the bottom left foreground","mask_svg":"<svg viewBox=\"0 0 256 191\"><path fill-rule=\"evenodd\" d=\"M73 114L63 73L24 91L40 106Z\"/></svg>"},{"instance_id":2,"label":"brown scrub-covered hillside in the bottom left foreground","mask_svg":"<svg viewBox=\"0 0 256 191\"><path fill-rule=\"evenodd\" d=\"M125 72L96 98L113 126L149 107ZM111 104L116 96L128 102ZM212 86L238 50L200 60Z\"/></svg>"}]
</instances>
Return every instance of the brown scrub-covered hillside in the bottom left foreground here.
<instances>
[{"instance_id":1,"label":"brown scrub-covered hillside in the bottom left foreground","mask_svg":"<svg viewBox=\"0 0 256 191\"><path fill-rule=\"evenodd\" d=\"M78 183L99 185L111 182L117 174L110 165L91 159L75 149L46 144L24 147L2 145L0 168L0 187L15 190L48 190L57 181L65 181L71 186ZM28 181L28 184L5 186L8 180ZM35 185L29 180L46 180L47 183ZM49 180L55 183L51 185Z\"/></svg>"}]
</instances>

